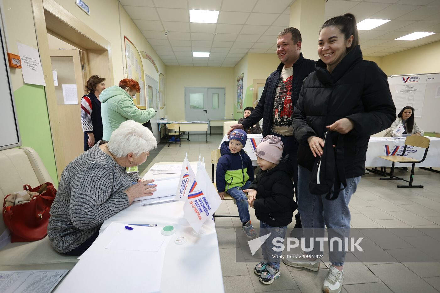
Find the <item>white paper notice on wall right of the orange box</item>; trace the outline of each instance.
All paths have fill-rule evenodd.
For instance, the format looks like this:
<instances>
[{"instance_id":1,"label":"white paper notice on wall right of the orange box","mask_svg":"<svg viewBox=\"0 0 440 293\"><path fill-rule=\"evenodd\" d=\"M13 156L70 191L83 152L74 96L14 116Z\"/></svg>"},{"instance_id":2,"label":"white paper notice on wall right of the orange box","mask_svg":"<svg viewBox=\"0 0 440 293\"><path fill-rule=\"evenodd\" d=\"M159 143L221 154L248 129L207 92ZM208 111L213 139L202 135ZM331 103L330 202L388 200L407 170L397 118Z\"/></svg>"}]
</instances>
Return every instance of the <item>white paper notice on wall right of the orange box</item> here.
<instances>
[{"instance_id":1,"label":"white paper notice on wall right of the orange box","mask_svg":"<svg viewBox=\"0 0 440 293\"><path fill-rule=\"evenodd\" d=\"M17 43L17 47L18 54L22 59L22 74L25 84L46 86L38 50L21 43Z\"/></svg>"}]
</instances>

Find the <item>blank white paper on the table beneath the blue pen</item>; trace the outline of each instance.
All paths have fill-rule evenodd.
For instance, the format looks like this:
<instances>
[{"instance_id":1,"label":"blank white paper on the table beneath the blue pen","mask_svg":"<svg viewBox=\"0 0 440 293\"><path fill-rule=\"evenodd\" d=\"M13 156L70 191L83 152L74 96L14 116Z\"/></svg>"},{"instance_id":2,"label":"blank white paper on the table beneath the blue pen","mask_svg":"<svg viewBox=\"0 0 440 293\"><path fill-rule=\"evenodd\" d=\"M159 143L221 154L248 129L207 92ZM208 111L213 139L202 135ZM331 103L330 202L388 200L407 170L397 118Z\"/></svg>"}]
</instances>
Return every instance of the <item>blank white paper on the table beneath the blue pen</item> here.
<instances>
[{"instance_id":1,"label":"blank white paper on the table beneath the blue pen","mask_svg":"<svg viewBox=\"0 0 440 293\"><path fill-rule=\"evenodd\" d=\"M117 232L106 249L132 250L132 251L159 251L165 241L161 234L162 227L144 227L128 225L133 230L122 229Z\"/></svg>"}]
</instances>

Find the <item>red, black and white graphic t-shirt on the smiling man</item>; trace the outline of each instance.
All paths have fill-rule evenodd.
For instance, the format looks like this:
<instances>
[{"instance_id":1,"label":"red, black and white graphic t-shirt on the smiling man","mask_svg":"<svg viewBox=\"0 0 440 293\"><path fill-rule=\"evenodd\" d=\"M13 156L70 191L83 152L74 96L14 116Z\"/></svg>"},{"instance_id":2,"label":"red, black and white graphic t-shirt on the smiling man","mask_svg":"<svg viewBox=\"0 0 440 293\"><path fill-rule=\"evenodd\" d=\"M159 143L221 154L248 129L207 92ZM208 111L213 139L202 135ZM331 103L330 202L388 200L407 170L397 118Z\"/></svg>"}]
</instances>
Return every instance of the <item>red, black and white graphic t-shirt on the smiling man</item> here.
<instances>
[{"instance_id":1,"label":"red, black and white graphic t-shirt on the smiling man","mask_svg":"<svg viewBox=\"0 0 440 293\"><path fill-rule=\"evenodd\" d=\"M274 121L271 131L282 136L292 136L292 77L293 66L290 68L282 67L281 77L275 89L274 99Z\"/></svg>"}]
</instances>

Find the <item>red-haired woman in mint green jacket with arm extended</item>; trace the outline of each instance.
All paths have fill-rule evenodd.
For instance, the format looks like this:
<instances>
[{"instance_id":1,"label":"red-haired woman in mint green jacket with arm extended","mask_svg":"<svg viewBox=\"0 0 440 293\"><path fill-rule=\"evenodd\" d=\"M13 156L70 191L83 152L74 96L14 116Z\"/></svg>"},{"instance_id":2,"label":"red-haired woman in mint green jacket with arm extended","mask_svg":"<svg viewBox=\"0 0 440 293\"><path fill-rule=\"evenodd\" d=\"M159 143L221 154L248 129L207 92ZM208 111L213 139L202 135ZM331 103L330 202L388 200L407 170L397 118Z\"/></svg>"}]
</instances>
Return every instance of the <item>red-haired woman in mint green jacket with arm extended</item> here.
<instances>
[{"instance_id":1,"label":"red-haired woman in mint green jacket with arm extended","mask_svg":"<svg viewBox=\"0 0 440 293\"><path fill-rule=\"evenodd\" d=\"M133 102L133 97L140 92L139 83L125 78L119 82L119 86L106 88L100 95L101 117L103 118L103 140L110 140L112 132L127 120L139 123L149 121L156 111L153 108L140 110Z\"/></svg>"}]
</instances>

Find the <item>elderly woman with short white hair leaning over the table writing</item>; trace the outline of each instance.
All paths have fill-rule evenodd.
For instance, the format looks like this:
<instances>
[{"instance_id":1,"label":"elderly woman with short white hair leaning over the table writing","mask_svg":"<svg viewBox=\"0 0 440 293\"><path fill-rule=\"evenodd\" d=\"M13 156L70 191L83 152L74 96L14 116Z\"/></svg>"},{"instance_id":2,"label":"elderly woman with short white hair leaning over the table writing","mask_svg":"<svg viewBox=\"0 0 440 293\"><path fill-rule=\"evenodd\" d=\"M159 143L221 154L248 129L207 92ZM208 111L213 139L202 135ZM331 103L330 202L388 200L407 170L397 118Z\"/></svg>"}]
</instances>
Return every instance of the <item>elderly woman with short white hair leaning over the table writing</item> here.
<instances>
[{"instance_id":1,"label":"elderly woman with short white hair leaning over the table writing","mask_svg":"<svg viewBox=\"0 0 440 293\"><path fill-rule=\"evenodd\" d=\"M128 172L147 160L157 146L148 128L128 120L111 135L75 158L61 174L51 206L48 236L53 248L81 255L98 237L102 223L135 198L152 195L154 180Z\"/></svg>"}]
</instances>

